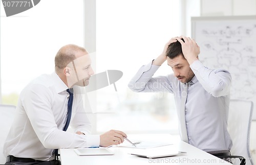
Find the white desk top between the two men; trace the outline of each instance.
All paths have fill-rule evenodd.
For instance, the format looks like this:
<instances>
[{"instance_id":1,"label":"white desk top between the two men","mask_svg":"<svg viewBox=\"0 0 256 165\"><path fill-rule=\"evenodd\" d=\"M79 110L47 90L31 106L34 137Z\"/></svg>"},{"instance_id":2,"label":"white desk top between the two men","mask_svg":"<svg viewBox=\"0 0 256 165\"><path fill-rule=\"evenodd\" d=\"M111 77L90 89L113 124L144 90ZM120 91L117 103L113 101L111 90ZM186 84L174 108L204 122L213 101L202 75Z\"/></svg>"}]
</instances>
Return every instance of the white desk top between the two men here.
<instances>
[{"instance_id":1,"label":"white desk top between the two men","mask_svg":"<svg viewBox=\"0 0 256 165\"><path fill-rule=\"evenodd\" d=\"M182 142L177 136L172 136L169 134L130 134L128 138L133 142L136 140L157 140L161 139L162 142L171 142L173 145L157 147L157 150L170 150L177 149L179 151L187 152L186 155L164 157L164 158L143 158L130 155L132 150L144 150L136 148L126 148L126 147L111 147L109 148L115 154L114 155L101 155L101 156L78 156L74 149L60 149L60 159L62 165L71 164L231 164L218 157L208 154L194 146L191 146L185 142Z\"/></svg>"}]
</instances>

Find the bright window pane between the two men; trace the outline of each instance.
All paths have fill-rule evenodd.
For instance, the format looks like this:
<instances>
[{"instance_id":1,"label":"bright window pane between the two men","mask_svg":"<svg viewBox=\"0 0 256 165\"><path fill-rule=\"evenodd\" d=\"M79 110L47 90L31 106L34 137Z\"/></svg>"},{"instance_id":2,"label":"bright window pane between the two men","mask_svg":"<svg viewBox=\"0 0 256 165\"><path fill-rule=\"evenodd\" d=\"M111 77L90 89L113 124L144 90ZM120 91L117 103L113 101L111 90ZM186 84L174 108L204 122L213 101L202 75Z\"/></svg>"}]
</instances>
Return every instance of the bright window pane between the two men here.
<instances>
[{"instance_id":1,"label":"bright window pane between the two men","mask_svg":"<svg viewBox=\"0 0 256 165\"><path fill-rule=\"evenodd\" d=\"M172 94L135 93L127 84L170 38L180 36L179 9L179 1L169 0L96 1L96 73L123 73L115 83L117 92L110 85L88 93L97 98L97 132L177 132ZM164 63L156 75L169 73L172 69Z\"/></svg>"}]
</instances>

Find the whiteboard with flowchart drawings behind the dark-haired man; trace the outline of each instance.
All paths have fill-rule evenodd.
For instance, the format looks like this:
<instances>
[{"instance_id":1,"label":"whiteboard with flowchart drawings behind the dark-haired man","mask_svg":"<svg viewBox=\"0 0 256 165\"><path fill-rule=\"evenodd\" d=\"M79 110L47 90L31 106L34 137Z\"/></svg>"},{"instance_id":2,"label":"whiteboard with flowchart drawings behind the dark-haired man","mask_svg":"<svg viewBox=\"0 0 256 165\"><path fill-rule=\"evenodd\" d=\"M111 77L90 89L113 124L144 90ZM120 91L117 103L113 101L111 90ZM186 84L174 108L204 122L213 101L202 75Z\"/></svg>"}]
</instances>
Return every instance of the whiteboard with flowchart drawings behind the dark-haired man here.
<instances>
[{"instance_id":1,"label":"whiteboard with flowchart drawings behind the dark-haired man","mask_svg":"<svg viewBox=\"0 0 256 165\"><path fill-rule=\"evenodd\" d=\"M191 17L191 33L200 46L200 61L231 73L231 99L256 106L256 16Z\"/></svg>"}]
</instances>

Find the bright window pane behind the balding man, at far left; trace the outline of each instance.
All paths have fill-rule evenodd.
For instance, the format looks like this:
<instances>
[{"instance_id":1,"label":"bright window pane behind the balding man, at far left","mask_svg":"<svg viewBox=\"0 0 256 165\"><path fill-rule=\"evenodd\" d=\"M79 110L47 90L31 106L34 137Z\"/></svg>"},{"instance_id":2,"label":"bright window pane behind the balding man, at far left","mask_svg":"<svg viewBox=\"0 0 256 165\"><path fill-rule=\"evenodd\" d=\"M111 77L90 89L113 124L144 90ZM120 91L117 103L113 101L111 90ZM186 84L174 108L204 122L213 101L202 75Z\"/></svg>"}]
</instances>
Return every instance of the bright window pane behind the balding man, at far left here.
<instances>
[{"instance_id":1,"label":"bright window pane behind the balding man, at far left","mask_svg":"<svg viewBox=\"0 0 256 165\"><path fill-rule=\"evenodd\" d=\"M84 44L83 1L44 0L10 17L0 4L2 104L16 105L32 79L54 72L61 46Z\"/></svg>"}]
</instances>

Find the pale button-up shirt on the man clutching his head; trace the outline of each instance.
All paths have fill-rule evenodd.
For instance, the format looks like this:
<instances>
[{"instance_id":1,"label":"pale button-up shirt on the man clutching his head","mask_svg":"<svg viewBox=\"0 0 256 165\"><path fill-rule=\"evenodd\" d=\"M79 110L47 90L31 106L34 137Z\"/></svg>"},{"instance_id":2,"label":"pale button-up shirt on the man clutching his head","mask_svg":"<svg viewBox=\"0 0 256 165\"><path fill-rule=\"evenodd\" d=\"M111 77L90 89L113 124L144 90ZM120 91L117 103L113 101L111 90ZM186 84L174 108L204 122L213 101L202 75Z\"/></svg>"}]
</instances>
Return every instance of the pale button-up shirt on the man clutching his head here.
<instances>
[{"instance_id":1,"label":"pale button-up shirt on the man clutching his head","mask_svg":"<svg viewBox=\"0 0 256 165\"><path fill-rule=\"evenodd\" d=\"M159 67L152 62L143 65L129 88L135 92L174 93L181 139L204 151L230 150L232 141L227 131L230 73L225 69L209 69L195 61L190 65L195 76L188 82L185 109L184 106L182 109L182 91L186 84L173 74L152 78Z\"/></svg>"}]
</instances>

